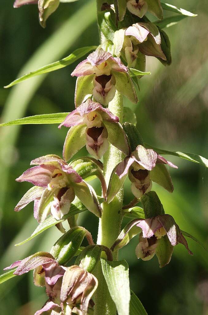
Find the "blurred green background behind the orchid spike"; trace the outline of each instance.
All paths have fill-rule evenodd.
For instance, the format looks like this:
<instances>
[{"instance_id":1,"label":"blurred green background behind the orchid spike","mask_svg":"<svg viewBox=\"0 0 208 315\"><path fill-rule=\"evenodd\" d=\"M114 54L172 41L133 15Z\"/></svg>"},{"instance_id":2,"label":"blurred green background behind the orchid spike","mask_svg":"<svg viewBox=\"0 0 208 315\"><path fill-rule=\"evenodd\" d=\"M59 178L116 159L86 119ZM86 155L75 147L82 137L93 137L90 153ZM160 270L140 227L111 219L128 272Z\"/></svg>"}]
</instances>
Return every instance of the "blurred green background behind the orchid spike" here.
<instances>
[{"instance_id":1,"label":"blurred green background behind the orchid spike","mask_svg":"<svg viewBox=\"0 0 208 315\"><path fill-rule=\"evenodd\" d=\"M208 6L206 0L175 0L169 3L193 10L196 18L186 18L165 31L172 44L172 65L164 67L147 58L151 76L140 81L140 102L125 100L136 113L137 127L145 142L172 151L208 157ZM11 89L3 89L14 78L61 59L75 49L99 42L95 21L95 1L60 4L48 19L47 28L39 26L36 5L13 9L12 0L1 0L0 11L0 106L1 122L40 113L69 112L74 109L75 78L70 76L76 64L32 78ZM169 15L169 13L165 13ZM152 17L151 17L152 18ZM152 19L154 20L154 19ZM21 70L20 70L21 69ZM20 71L20 72L19 72ZM20 247L15 243L27 238L36 228L33 205L20 213L14 206L31 187L17 183L29 168L30 160L50 154L62 154L66 128L57 125L26 125L0 129L0 270L13 261L38 250L50 251L61 235L55 227ZM81 150L77 156L87 152ZM208 172L202 166L167 156L179 169L170 169L174 192L154 186L166 213L174 216L185 230L207 244ZM91 182L100 193L99 183ZM125 200L132 195L125 184ZM125 219L123 224L127 223ZM88 228L94 240L97 218L84 213L79 225ZM130 268L131 289L138 295L149 315L208 314L208 254L188 240L194 256L182 245L174 249L170 264L159 268L156 257L137 260L135 237L120 251ZM4 315L32 315L46 300L43 288L33 285L32 272L15 277L0 286L0 312Z\"/></svg>"}]
</instances>

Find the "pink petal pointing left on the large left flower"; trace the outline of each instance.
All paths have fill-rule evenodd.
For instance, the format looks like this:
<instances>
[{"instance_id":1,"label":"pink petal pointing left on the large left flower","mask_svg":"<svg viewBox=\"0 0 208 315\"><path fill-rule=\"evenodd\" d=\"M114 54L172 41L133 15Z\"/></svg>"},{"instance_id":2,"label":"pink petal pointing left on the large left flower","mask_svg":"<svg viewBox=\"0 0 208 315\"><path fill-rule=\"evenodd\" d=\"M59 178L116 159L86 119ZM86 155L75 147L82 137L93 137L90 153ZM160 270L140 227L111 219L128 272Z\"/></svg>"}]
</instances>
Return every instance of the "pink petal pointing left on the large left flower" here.
<instances>
[{"instance_id":1,"label":"pink petal pointing left on the large left flower","mask_svg":"<svg viewBox=\"0 0 208 315\"><path fill-rule=\"evenodd\" d=\"M35 186L47 187L56 167L54 165L38 165L27 169L16 181L28 181Z\"/></svg>"}]
</instances>

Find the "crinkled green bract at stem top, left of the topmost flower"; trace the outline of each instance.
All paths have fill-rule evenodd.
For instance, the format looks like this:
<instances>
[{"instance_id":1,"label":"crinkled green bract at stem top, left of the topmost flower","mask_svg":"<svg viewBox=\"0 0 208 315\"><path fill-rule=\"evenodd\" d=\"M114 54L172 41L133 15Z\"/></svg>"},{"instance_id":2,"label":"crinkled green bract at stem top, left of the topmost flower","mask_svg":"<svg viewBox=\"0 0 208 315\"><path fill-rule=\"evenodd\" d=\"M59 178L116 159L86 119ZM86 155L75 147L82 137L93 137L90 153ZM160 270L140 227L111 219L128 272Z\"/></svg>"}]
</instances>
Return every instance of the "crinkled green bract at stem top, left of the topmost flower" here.
<instances>
[{"instance_id":1,"label":"crinkled green bract at stem top, left of the topmost flower","mask_svg":"<svg viewBox=\"0 0 208 315\"><path fill-rule=\"evenodd\" d=\"M102 34L106 39L113 41L114 32L117 30L109 11L98 11L97 22Z\"/></svg>"}]
</instances>

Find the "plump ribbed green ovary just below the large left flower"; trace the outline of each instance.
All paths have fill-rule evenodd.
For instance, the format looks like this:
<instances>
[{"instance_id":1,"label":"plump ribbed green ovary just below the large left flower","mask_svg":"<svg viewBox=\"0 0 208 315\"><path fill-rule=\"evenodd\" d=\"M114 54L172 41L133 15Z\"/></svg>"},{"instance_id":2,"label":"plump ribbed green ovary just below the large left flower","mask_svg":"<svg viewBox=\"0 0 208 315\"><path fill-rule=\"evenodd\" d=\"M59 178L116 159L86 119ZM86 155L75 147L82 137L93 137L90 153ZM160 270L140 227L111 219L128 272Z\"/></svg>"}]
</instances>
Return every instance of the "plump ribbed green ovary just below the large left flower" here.
<instances>
[{"instance_id":1,"label":"plump ribbed green ovary just below the large left flower","mask_svg":"<svg viewBox=\"0 0 208 315\"><path fill-rule=\"evenodd\" d=\"M78 251L86 230L75 226L63 234L53 245L50 253L58 261L59 265L65 265Z\"/></svg>"}]
</instances>

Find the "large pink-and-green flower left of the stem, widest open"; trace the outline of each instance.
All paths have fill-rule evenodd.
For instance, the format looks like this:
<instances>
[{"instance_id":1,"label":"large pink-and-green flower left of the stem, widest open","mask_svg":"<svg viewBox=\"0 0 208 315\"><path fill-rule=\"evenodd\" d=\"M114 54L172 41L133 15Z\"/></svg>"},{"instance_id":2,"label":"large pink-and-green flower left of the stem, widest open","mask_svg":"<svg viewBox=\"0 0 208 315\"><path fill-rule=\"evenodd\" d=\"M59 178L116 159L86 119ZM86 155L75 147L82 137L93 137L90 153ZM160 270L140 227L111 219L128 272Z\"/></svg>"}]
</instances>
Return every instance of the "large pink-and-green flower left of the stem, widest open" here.
<instances>
[{"instance_id":1,"label":"large pink-and-green flower left of the stem, widest open","mask_svg":"<svg viewBox=\"0 0 208 315\"><path fill-rule=\"evenodd\" d=\"M94 189L63 159L51 154L39 157L31 164L36 166L26 170L16 180L28 181L35 187L26 192L15 211L34 201L34 217L38 222L44 221L50 213L60 220L69 212L76 195L88 210L101 217L101 206Z\"/></svg>"}]
</instances>

